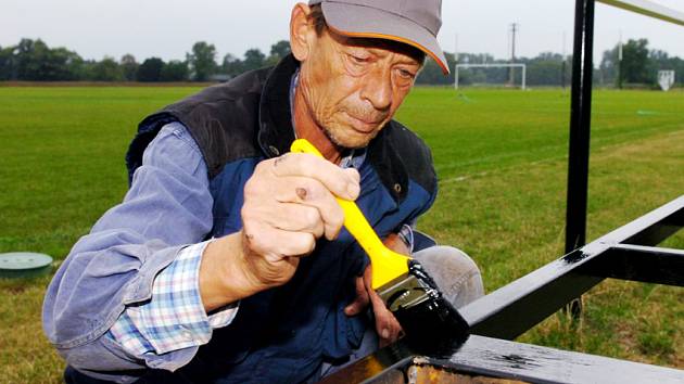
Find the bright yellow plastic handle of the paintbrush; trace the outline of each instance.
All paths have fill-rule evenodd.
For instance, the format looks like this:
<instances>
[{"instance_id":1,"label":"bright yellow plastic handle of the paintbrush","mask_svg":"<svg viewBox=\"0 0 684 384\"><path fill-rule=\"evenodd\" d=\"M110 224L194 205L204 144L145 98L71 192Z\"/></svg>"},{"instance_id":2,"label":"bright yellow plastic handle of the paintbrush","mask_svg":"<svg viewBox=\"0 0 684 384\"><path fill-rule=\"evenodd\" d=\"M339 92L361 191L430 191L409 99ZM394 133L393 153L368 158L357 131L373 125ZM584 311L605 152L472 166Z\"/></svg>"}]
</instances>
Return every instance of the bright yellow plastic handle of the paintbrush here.
<instances>
[{"instance_id":1,"label":"bright yellow plastic handle of the paintbrush","mask_svg":"<svg viewBox=\"0 0 684 384\"><path fill-rule=\"evenodd\" d=\"M290 148L292 152L311 153L322 157L320 152L307 140L299 139ZM356 203L335 197L344 210L344 227L366 251L372 265L372 289L377 290L402 274L408 273L409 257L391 251L376 234Z\"/></svg>"}]
</instances>

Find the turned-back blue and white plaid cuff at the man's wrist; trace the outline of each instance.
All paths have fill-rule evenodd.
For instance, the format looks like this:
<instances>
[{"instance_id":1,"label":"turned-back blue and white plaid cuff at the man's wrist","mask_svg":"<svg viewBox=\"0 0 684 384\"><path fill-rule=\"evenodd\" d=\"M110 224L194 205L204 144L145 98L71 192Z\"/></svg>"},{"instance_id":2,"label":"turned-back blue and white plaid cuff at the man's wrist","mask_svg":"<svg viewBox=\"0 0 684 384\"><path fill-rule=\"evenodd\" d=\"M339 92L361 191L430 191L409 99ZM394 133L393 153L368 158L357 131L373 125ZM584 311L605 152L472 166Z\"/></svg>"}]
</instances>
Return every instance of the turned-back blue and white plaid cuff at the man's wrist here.
<instances>
[{"instance_id":1,"label":"turned-back blue and white plaid cuff at the man's wrist","mask_svg":"<svg viewBox=\"0 0 684 384\"><path fill-rule=\"evenodd\" d=\"M110 330L136 356L165 354L208 343L212 331L228 325L238 303L207 316L200 295L200 265L211 241L182 248L154 279L152 298L129 306Z\"/></svg>"}]
</instances>

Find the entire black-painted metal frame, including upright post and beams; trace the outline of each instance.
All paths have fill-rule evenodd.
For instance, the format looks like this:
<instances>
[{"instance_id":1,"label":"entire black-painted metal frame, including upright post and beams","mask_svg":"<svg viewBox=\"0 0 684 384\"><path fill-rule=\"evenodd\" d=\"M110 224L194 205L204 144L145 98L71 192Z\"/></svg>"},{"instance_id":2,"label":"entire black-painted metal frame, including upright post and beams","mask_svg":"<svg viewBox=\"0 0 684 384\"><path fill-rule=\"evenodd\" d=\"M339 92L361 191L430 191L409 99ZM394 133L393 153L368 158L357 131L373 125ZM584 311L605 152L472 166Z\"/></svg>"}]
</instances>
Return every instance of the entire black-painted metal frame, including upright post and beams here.
<instances>
[{"instance_id":1,"label":"entire black-painted metal frame, including upright post and beams","mask_svg":"<svg viewBox=\"0 0 684 384\"><path fill-rule=\"evenodd\" d=\"M584 245L596 1L684 25L681 13L646 2L575 0L566 256L461 308L473 335L451 356L415 356L400 341L326 383L415 383L421 367L532 383L684 383L683 370L507 341L606 278L684 286L684 251L656 246L684 227L684 195Z\"/></svg>"}]
</instances>

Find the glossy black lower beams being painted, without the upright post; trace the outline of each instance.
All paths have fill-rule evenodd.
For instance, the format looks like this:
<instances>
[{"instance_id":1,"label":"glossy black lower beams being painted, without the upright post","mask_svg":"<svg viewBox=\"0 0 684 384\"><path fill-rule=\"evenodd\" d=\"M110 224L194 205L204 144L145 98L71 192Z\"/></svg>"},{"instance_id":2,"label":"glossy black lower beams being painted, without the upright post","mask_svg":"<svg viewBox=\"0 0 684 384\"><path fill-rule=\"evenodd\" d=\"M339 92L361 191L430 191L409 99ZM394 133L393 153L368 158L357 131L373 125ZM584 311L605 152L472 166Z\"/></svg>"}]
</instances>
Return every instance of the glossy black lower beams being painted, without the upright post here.
<instances>
[{"instance_id":1,"label":"glossy black lower beams being painted, without the upright post","mask_svg":"<svg viewBox=\"0 0 684 384\"><path fill-rule=\"evenodd\" d=\"M684 249L656 246L682 228L684 195L461 308L473 335L449 356L400 342L324 382L405 383L431 367L531 383L684 383L684 370L507 341L606 278L684 286Z\"/></svg>"}]
</instances>

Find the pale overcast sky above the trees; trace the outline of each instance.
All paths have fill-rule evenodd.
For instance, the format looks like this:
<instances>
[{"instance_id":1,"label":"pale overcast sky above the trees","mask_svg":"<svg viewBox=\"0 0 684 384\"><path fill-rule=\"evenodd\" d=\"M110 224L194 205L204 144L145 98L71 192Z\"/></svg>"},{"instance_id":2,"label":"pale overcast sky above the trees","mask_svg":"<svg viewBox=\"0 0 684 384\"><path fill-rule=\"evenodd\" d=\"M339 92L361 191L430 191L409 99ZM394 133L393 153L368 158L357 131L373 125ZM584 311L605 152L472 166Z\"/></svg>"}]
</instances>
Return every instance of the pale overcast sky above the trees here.
<instances>
[{"instance_id":1,"label":"pale overcast sky above the trees","mask_svg":"<svg viewBox=\"0 0 684 384\"><path fill-rule=\"evenodd\" d=\"M683 0L656 0L684 12ZM2 0L0 46L22 37L66 47L86 59L185 59L192 43L214 43L219 57L242 56L258 48L265 53L288 38L295 0ZM572 50L574 0L443 0L444 24L439 40L453 52L458 35L461 52L509 55L509 25L518 23L518 55ZM620 34L648 38L651 48L684 57L684 27L596 5L596 53L613 47ZM600 56L597 56L600 60Z\"/></svg>"}]
</instances>

